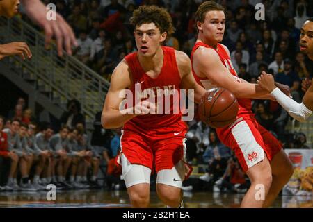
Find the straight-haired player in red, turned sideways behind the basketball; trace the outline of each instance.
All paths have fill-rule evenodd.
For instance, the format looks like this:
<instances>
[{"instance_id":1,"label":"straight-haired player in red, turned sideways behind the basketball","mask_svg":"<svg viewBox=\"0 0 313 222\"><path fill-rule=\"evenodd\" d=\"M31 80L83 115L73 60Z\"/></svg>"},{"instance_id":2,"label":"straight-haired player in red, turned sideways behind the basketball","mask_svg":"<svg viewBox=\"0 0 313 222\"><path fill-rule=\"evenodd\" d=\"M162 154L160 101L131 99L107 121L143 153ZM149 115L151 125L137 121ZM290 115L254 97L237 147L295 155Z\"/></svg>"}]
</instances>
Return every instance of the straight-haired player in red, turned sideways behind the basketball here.
<instances>
[{"instance_id":1,"label":"straight-haired player in red, turned sideways behind the basketball","mask_svg":"<svg viewBox=\"0 0 313 222\"><path fill-rule=\"evenodd\" d=\"M230 52L219 43L225 31L223 10L223 6L206 1L195 14L198 40L191 54L193 74L206 89L223 87L237 97L239 112L236 121L216 131L220 141L234 150L251 180L241 207L268 207L288 182L293 168L280 142L257 123L251 111L248 98L269 99L269 95L259 85L237 77Z\"/></svg>"}]
</instances>

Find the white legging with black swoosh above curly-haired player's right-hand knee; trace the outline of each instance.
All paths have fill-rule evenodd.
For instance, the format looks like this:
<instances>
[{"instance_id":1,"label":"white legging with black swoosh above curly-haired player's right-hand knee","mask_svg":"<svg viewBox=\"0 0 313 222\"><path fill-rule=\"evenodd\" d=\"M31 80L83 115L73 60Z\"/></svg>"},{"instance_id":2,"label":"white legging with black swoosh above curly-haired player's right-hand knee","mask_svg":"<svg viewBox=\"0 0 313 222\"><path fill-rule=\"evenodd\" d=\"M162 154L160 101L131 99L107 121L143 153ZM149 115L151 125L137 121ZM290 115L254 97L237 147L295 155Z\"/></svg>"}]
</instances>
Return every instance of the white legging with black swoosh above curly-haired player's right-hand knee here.
<instances>
[{"instance_id":1,"label":"white legging with black swoosh above curly-haired player's right-hand knee","mask_svg":"<svg viewBox=\"0 0 313 222\"><path fill-rule=\"evenodd\" d=\"M184 178L185 164L182 160L180 160L172 169L162 169L159 171L157 183L182 188Z\"/></svg>"}]
</instances>

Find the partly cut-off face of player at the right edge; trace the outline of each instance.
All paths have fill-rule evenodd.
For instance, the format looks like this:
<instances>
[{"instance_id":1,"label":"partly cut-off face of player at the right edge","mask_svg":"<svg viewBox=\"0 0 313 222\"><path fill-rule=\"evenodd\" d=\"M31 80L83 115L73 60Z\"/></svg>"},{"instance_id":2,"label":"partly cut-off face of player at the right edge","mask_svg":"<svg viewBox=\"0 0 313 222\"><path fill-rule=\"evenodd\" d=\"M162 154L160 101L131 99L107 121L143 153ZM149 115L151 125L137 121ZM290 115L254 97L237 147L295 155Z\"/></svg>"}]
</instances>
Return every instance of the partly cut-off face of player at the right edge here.
<instances>
[{"instance_id":1,"label":"partly cut-off face of player at the right edge","mask_svg":"<svg viewBox=\"0 0 313 222\"><path fill-rule=\"evenodd\" d=\"M307 21L301 28L300 51L313 54L313 22Z\"/></svg>"}]
</instances>

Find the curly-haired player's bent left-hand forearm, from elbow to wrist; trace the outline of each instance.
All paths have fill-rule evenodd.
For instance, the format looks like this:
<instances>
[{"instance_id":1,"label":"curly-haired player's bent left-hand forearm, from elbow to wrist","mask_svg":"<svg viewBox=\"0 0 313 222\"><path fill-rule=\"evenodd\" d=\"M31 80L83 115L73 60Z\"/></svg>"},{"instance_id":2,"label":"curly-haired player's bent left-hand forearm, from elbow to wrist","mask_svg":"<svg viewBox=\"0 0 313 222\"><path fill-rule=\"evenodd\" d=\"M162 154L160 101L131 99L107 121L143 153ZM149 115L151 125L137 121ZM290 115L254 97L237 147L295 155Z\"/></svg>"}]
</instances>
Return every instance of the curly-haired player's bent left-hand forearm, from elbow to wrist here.
<instances>
[{"instance_id":1,"label":"curly-haired player's bent left-hand forearm, from elbow to wrist","mask_svg":"<svg viewBox=\"0 0 313 222\"><path fill-rule=\"evenodd\" d=\"M119 110L109 110L107 112L102 112L101 116L102 126L106 129L122 127L127 121L135 117L135 114L129 114L127 113L127 110L125 110L124 112L121 112Z\"/></svg>"}]
</instances>

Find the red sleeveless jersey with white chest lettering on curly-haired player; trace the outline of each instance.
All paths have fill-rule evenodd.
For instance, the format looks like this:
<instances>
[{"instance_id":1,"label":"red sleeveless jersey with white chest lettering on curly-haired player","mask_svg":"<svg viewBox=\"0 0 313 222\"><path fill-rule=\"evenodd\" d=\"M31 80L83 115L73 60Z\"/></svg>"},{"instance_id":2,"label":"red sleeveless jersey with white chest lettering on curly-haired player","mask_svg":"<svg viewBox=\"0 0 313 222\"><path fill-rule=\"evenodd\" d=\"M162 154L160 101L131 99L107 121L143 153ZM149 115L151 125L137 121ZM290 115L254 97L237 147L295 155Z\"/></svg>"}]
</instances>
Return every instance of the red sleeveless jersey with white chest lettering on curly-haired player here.
<instances>
[{"instance_id":1,"label":"red sleeveless jersey with white chest lettering on curly-haired player","mask_svg":"<svg viewBox=\"0 0 313 222\"><path fill-rule=\"evenodd\" d=\"M139 96L140 94L141 101L148 98L155 99L158 103L163 101L163 109L159 109L163 111L160 111L161 114L145 114L134 117L125 123L124 130L143 132L143 129L149 131L168 128L174 126L174 124L175 129L177 129L177 126L179 126L178 130L186 128L186 124L182 122L182 112L180 110L177 112L176 109L179 108L181 78L177 67L175 49L162 46L162 50L163 67L157 78L151 78L145 73L138 60L137 52L125 56L131 71L132 85L130 90L133 96L135 94ZM138 90L138 87L140 87L140 90ZM170 101L170 105L168 101ZM135 103L134 101L134 105Z\"/></svg>"}]
</instances>

